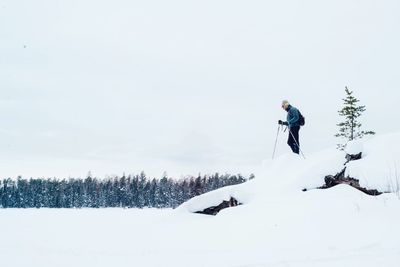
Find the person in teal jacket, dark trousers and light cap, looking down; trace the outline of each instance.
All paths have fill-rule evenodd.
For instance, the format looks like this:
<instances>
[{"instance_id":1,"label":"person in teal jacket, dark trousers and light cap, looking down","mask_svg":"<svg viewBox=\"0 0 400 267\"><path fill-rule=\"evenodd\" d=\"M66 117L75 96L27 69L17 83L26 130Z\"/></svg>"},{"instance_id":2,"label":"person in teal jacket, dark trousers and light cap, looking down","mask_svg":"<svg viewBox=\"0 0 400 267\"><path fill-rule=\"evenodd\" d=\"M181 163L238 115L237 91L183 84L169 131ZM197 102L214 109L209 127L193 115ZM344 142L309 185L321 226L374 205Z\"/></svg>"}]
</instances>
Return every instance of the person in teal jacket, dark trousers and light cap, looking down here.
<instances>
[{"instance_id":1,"label":"person in teal jacket, dark trousers and light cap, looking down","mask_svg":"<svg viewBox=\"0 0 400 267\"><path fill-rule=\"evenodd\" d=\"M286 125L289 128L289 138L287 144L292 149L293 153L299 154L300 142L299 142L299 131L300 131L300 112L297 108L289 104L289 101L282 101L282 108L286 110L287 121L279 120L280 125Z\"/></svg>"}]
</instances>

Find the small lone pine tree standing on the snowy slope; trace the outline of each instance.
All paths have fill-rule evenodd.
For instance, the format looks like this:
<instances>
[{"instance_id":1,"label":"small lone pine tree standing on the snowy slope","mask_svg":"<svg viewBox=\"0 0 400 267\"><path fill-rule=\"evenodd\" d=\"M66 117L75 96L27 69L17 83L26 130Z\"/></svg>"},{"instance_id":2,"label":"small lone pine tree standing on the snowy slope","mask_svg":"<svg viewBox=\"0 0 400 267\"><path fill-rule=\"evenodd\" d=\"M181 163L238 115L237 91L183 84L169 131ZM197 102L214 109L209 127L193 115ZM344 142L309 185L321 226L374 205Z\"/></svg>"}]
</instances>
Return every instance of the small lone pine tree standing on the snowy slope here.
<instances>
[{"instance_id":1,"label":"small lone pine tree standing on the snowy slope","mask_svg":"<svg viewBox=\"0 0 400 267\"><path fill-rule=\"evenodd\" d=\"M338 149L343 150L348 141L362 138L364 135L374 135L373 131L362 131L361 123L358 118L366 110L365 106L357 106L359 100L353 96L353 91L345 87L346 98L343 99L343 108L339 110L339 115L344 117L344 121L337 124L339 133L335 137L346 140L346 143L338 144Z\"/></svg>"}]
</instances>

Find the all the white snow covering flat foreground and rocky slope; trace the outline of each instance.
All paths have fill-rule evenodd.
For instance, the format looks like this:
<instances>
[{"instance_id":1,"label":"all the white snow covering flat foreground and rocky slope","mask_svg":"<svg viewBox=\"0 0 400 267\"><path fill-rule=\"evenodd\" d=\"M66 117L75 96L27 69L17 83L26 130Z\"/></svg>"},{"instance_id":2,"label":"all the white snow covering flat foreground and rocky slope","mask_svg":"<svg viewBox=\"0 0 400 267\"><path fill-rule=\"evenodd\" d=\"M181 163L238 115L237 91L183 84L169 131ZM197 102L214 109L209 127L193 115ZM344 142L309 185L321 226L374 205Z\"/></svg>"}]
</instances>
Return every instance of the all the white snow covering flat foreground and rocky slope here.
<instances>
[{"instance_id":1,"label":"all the white snow covering flat foreground and rocky slope","mask_svg":"<svg viewBox=\"0 0 400 267\"><path fill-rule=\"evenodd\" d=\"M399 138L363 142L364 157L348 163L348 173L360 183L388 187L384 175L394 176L388 166L399 160ZM255 179L176 210L0 210L2 264L399 266L398 190L369 196L347 185L316 189L345 162L345 153L333 148L307 159L283 155L266 161ZM230 197L243 205L217 216L193 213Z\"/></svg>"}]
</instances>

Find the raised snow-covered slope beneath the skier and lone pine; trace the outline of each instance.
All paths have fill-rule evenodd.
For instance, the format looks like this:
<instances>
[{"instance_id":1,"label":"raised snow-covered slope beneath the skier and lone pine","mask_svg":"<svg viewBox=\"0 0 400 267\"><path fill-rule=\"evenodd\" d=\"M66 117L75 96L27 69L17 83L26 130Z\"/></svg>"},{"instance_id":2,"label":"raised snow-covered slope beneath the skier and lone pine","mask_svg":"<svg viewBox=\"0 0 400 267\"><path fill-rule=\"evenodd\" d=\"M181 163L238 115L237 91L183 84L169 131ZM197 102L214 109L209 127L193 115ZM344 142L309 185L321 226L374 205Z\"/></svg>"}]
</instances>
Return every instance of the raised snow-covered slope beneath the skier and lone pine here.
<instances>
[{"instance_id":1,"label":"raised snow-covered slope beneath the skier and lone pine","mask_svg":"<svg viewBox=\"0 0 400 267\"><path fill-rule=\"evenodd\" d=\"M256 174L256 179L195 197L178 210L200 211L229 200L230 197L243 204L253 200L269 202L277 196L321 187L325 183L325 176L335 175L345 166L346 175L359 180L360 186L380 192L399 193L400 155L396 152L400 151L400 142L396 140L400 140L400 133L352 142L345 152L332 148L309 155L306 159L296 154L286 154L266 161L262 170ZM362 152L362 158L346 164L346 152Z\"/></svg>"}]
</instances>

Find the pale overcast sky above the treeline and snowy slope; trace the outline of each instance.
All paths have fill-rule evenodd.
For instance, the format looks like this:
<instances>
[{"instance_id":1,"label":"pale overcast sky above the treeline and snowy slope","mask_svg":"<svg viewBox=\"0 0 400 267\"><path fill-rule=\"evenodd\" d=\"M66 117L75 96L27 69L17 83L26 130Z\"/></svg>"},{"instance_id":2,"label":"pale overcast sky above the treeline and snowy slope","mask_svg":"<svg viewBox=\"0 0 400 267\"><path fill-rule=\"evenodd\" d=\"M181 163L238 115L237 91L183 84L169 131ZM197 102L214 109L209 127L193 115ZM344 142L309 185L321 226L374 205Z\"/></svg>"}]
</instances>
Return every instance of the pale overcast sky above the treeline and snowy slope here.
<instances>
[{"instance_id":1,"label":"pale overcast sky above the treeline and snowy slope","mask_svg":"<svg viewBox=\"0 0 400 267\"><path fill-rule=\"evenodd\" d=\"M332 147L344 87L400 130L399 1L0 0L0 177L251 173L280 108ZM281 135L278 155L288 153Z\"/></svg>"}]
</instances>

